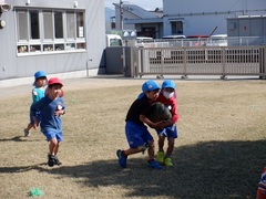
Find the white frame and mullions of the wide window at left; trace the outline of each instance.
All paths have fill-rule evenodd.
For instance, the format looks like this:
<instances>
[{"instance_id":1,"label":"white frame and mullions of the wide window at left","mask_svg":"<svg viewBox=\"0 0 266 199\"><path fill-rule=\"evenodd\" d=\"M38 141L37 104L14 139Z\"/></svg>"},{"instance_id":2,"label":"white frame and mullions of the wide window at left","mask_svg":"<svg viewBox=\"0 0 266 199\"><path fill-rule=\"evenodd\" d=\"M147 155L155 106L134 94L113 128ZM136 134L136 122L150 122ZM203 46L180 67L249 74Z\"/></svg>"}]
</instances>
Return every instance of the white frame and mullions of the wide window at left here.
<instances>
[{"instance_id":1,"label":"white frame and mullions of the wide window at left","mask_svg":"<svg viewBox=\"0 0 266 199\"><path fill-rule=\"evenodd\" d=\"M31 18L30 13L37 12L38 13L38 22L39 22L39 39L31 39ZM62 38L55 38L55 13L62 13ZM20 24L19 14L24 14L23 23L25 25ZM50 19L52 19L52 24L48 23L44 24L45 13L51 13ZM68 28L68 13L73 14L72 23L74 23L73 28ZM79 15L79 17L78 17ZM62 9L35 9L35 8L14 8L14 17L16 17L16 36L17 36L17 55L32 55L32 54L51 54L51 53L69 53L69 52L85 52L86 51L86 41L85 41L85 10L62 10ZM81 18L82 23L82 38L79 38L76 31L78 29L78 18ZM71 23L71 24L72 24ZM45 25L52 27L52 33L45 32ZM21 27L20 27L21 25ZM23 30L24 28L24 30ZM74 38L68 38L68 30L73 31L71 32ZM20 40L21 33L24 31L23 35L27 39ZM52 38L45 38L47 35L52 35Z\"/></svg>"}]
</instances>

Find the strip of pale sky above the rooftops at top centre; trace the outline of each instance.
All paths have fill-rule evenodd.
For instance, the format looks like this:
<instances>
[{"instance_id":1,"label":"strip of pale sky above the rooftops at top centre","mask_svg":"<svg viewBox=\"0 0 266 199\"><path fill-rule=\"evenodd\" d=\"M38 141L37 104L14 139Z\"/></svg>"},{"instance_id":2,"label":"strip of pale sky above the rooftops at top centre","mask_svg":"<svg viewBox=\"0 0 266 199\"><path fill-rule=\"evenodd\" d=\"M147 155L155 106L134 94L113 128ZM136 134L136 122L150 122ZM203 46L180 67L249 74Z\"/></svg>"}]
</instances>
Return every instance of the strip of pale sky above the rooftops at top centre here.
<instances>
[{"instance_id":1,"label":"strip of pale sky above the rooftops at top centre","mask_svg":"<svg viewBox=\"0 0 266 199\"><path fill-rule=\"evenodd\" d=\"M163 0L123 0L127 4L136 4L145 10L155 10L163 8ZM120 0L105 0L105 7L114 9L113 3L120 3Z\"/></svg>"}]
</instances>

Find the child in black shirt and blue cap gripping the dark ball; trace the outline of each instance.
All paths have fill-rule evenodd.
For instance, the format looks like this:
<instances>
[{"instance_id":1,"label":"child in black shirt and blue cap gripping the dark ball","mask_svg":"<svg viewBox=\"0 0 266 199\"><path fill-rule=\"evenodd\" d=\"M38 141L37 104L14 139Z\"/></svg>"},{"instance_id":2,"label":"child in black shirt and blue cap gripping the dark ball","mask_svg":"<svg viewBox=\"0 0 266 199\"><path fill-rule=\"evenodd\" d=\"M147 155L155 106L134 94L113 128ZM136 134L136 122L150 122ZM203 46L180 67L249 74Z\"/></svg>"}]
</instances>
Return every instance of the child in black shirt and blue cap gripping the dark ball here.
<instances>
[{"instance_id":1,"label":"child in black shirt and blue cap gripping the dark ball","mask_svg":"<svg viewBox=\"0 0 266 199\"><path fill-rule=\"evenodd\" d=\"M154 159L154 140L147 127L147 124L152 128L162 127L163 123L152 123L147 117L147 112L157 96L160 86L154 81L146 81L142 85L142 91L139 97L131 105L126 118L125 118L125 135L130 148L126 150L119 149L116 156L119 157L119 164L121 167L126 168L127 156L136 153L144 153L147 148L149 164L155 169L162 169Z\"/></svg>"}]
</instances>

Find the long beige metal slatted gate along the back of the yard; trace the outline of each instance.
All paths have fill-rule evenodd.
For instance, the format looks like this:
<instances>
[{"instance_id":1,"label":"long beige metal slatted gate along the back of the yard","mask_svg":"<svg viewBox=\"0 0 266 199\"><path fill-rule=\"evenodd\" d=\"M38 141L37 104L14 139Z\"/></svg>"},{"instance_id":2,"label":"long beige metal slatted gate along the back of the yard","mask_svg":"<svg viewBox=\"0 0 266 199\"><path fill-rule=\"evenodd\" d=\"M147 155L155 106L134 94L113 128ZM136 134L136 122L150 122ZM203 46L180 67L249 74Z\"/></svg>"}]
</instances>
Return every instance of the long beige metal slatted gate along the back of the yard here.
<instances>
[{"instance_id":1,"label":"long beige metal slatted gate along the back of the yard","mask_svg":"<svg viewBox=\"0 0 266 199\"><path fill-rule=\"evenodd\" d=\"M131 76L266 76L266 46L132 48Z\"/></svg>"}]
</instances>

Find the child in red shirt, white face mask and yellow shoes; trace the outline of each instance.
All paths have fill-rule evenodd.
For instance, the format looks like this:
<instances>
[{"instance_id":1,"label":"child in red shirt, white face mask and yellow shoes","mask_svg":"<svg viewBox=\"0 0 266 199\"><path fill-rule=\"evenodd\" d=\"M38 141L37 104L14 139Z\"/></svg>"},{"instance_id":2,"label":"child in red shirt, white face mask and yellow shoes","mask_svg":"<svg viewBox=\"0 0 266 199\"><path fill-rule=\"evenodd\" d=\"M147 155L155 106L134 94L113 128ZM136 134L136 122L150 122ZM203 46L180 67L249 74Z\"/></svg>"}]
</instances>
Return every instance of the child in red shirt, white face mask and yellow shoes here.
<instances>
[{"instance_id":1,"label":"child in red shirt, white face mask and yellow shoes","mask_svg":"<svg viewBox=\"0 0 266 199\"><path fill-rule=\"evenodd\" d=\"M174 140L177 138L177 128L176 122L178 121L177 114L177 103L176 103L176 94L175 94L175 84L165 80L162 84L162 91L156 100L156 102L163 103L171 112L172 119L165 122L165 128L156 129L158 135L158 151L156 160L157 163L164 164L165 166L173 166L170 156L174 149ZM164 140L165 137L168 139L168 147L166 154L164 154Z\"/></svg>"}]
</instances>

